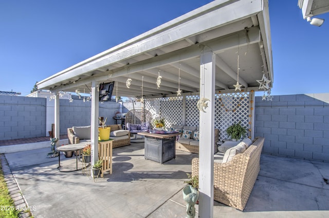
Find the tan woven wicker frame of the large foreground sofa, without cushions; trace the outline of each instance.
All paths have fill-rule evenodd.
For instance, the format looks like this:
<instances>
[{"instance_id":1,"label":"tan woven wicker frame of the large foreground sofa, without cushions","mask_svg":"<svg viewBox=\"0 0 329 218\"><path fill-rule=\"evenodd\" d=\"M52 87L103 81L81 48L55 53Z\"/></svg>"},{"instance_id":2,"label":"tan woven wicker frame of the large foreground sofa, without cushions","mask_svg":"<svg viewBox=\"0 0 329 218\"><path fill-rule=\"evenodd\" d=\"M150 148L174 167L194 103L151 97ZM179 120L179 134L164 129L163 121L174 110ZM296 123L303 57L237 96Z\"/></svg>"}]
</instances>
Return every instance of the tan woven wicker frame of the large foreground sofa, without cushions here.
<instances>
[{"instance_id":1,"label":"tan woven wicker frame of the large foreground sofa, without cushions","mask_svg":"<svg viewBox=\"0 0 329 218\"><path fill-rule=\"evenodd\" d=\"M264 138L258 137L226 163L214 163L214 200L243 211L260 171ZM192 176L199 173L199 159L192 160Z\"/></svg>"}]
</instances>

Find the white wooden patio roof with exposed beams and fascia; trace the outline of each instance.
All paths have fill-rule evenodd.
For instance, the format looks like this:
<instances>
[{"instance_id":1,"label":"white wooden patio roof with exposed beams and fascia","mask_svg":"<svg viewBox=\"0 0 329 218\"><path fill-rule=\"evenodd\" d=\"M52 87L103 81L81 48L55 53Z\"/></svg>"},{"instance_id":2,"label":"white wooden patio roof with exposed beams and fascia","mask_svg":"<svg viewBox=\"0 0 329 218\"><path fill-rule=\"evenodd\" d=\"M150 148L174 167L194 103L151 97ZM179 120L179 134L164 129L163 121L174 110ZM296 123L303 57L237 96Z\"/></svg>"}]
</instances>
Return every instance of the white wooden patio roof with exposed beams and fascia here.
<instances>
[{"instance_id":1,"label":"white wooden patio roof with exposed beams and fascia","mask_svg":"<svg viewBox=\"0 0 329 218\"><path fill-rule=\"evenodd\" d=\"M273 81L268 1L213 1L46 78L38 89L89 92L93 80L115 81L118 96L140 97L143 80L143 95L148 98L176 94L180 71L180 90L198 92L200 55L212 51L215 89L234 91L238 49L244 90L258 91L256 80L263 72ZM130 88L127 78L132 79Z\"/></svg>"}]
</instances>

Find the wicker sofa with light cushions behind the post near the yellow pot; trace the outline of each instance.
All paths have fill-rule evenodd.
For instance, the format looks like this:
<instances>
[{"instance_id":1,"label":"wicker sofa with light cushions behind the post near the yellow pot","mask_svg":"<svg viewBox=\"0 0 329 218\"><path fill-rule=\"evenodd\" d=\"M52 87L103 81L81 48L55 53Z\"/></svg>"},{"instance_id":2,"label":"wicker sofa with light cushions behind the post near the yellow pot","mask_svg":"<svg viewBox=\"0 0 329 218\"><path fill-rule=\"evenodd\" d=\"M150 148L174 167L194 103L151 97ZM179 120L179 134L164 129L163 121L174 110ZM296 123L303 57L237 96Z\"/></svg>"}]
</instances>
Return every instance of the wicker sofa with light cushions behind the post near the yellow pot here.
<instances>
[{"instance_id":1,"label":"wicker sofa with light cushions behind the post near the yellow pot","mask_svg":"<svg viewBox=\"0 0 329 218\"><path fill-rule=\"evenodd\" d=\"M106 125L106 127L111 127L111 133L110 133L109 138L114 140L113 148L130 145L130 132L128 130L122 130L122 127L120 124ZM67 136L68 136L69 144L78 144L78 143L86 142L86 141L90 140L90 132L91 132L90 126L78 127L78 128L80 128L80 129L85 128L83 131L81 131L80 137L75 134L75 132L73 130L74 128L67 128ZM122 131L120 131L120 130L122 130ZM123 133L124 131L126 133ZM119 133L119 132L121 132L121 134L124 134L124 135L119 135L119 134L118 134L118 136L114 135L114 133Z\"/></svg>"}]
</instances>

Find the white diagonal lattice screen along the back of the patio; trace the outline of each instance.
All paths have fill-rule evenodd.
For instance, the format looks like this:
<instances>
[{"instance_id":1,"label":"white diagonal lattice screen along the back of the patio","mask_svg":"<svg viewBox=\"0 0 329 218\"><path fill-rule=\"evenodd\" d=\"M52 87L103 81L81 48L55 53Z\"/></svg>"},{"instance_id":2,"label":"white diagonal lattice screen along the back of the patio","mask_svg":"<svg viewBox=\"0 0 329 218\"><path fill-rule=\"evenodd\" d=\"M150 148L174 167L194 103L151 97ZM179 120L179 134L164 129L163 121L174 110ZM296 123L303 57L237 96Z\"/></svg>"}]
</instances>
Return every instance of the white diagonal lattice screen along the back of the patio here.
<instances>
[{"instance_id":1,"label":"white diagonal lattice screen along the back of the patio","mask_svg":"<svg viewBox=\"0 0 329 218\"><path fill-rule=\"evenodd\" d=\"M184 108L183 100L186 99ZM145 100L145 108L153 118L164 117L166 127L171 125L199 126L199 111L196 103L199 95L172 96ZM220 141L227 138L225 130L233 123L241 121L242 126L250 129L249 93L223 93L215 95L215 128L220 130ZM185 114L185 117L183 117ZM185 120L185 123L183 121ZM248 131L250 136L250 132Z\"/></svg>"}]
</instances>

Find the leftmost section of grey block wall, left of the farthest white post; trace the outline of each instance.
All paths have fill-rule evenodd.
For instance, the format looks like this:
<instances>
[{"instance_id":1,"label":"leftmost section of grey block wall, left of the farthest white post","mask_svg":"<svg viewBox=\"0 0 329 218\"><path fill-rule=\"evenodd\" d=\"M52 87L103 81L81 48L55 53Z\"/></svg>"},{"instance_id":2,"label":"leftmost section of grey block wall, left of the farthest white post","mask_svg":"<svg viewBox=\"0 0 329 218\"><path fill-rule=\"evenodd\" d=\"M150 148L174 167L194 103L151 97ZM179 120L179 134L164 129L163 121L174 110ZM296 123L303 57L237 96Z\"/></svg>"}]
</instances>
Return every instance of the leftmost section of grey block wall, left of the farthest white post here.
<instances>
[{"instance_id":1,"label":"leftmost section of grey block wall, left of the farthest white post","mask_svg":"<svg viewBox=\"0 0 329 218\"><path fill-rule=\"evenodd\" d=\"M0 140L46 135L45 98L0 96Z\"/></svg>"}]
</instances>

